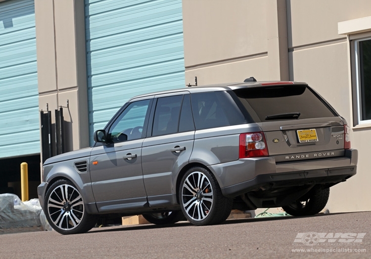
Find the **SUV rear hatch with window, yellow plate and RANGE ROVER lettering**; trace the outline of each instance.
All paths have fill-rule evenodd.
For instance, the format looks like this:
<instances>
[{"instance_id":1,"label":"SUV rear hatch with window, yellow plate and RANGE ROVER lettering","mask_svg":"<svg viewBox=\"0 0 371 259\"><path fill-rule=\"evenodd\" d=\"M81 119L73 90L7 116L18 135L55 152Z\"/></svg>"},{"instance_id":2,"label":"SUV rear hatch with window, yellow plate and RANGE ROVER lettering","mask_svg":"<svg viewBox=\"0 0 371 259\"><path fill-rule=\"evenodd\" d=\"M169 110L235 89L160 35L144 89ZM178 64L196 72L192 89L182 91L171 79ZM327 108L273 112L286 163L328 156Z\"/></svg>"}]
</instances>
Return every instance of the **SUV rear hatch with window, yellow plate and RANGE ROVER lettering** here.
<instances>
[{"instance_id":1,"label":"SUV rear hatch with window, yellow plate and RANGE ROVER lettering","mask_svg":"<svg viewBox=\"0 0 371 259\"><path fill-rule=\"evenodd\" d=\"M344 156L346 122L319 94L306 84L262 85L233 92L276 162Z\"/></svg>"}]
</instances>

